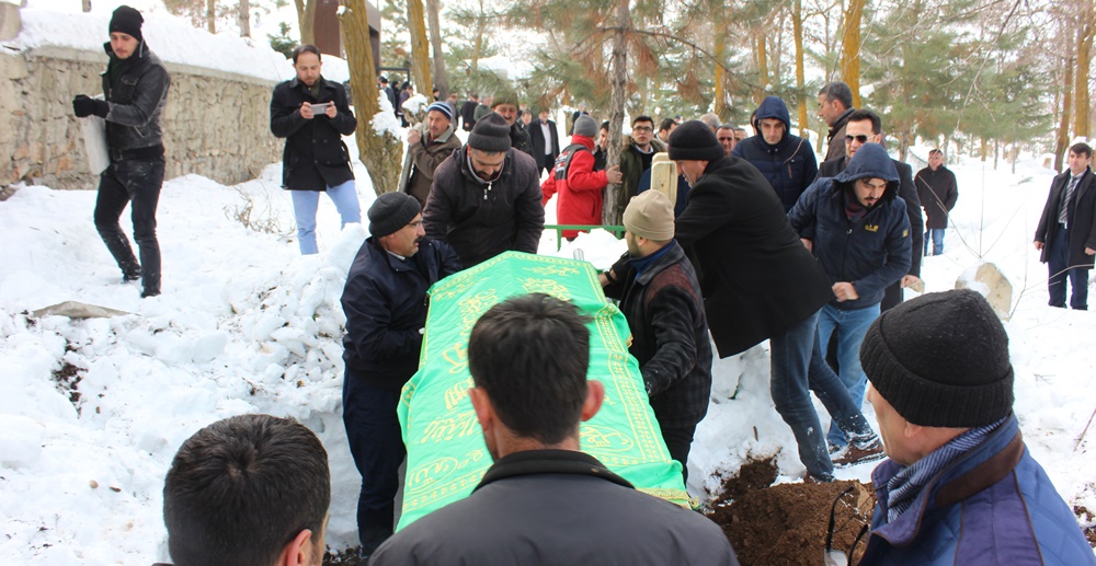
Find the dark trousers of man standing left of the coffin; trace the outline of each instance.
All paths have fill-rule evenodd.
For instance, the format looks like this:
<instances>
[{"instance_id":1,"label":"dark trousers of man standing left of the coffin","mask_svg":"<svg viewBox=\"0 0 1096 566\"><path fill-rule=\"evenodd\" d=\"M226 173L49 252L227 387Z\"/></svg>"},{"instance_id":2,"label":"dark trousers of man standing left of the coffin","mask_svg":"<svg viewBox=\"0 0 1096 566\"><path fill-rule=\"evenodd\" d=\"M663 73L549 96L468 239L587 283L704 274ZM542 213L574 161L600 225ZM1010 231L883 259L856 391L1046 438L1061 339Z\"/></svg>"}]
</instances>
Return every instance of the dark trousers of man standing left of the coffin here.
<instances>
[{"instance_id":1,"label":"dark trousers of man standing left of the coffin","mask_svg":"<svg viewBox=\"0 0 1096 566\"><path fill-rule=\"evenodd\" d=\"M343 425L354 465L362 474L357 535L362 555L373 554L392 535L399 469L407 450L396 407L400 392L369 384L350 370L343 380Z\"/></svg>"}]
</instances>

